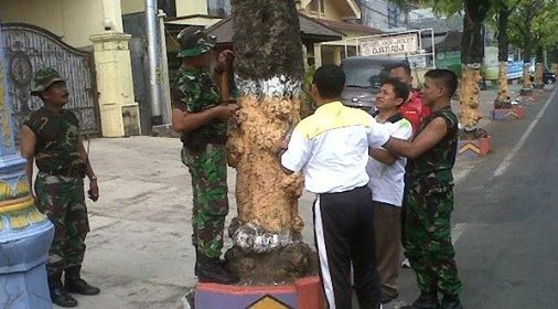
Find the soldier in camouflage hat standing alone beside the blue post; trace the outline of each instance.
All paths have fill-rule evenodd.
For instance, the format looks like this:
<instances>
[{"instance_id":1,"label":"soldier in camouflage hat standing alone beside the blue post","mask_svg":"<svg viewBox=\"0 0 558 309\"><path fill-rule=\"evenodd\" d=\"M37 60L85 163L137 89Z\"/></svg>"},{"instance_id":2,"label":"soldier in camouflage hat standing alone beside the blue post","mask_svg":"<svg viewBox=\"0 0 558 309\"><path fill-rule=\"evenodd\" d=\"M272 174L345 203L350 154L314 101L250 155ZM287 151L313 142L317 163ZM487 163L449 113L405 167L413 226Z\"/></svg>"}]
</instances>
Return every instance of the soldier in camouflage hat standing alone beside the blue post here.
<instances>
[{"instance_id":1,"label":"soldier in camouflage hat standing alone beside the blue post","mask_svg":"<svg viewBox=\"0 0 558 309\"><path fill-rule=\"evenodd\" d=\"M71 110L63 108L69 99L65 81L53 68L42 68L35 74L31 94L41 97L44 106L23 124L21 152L28 160L31 188L33 162L36 162L35 203L55 227L46 264L51 299L61 307L76 307L77 300L68 291L99 294L99 289L88 285L79 274L84 241L89 232L84 178L87 175L90 180L89 199L93 201L99 198L97 178L79 137L78 120Z\"/></svg>"}]
</instances>

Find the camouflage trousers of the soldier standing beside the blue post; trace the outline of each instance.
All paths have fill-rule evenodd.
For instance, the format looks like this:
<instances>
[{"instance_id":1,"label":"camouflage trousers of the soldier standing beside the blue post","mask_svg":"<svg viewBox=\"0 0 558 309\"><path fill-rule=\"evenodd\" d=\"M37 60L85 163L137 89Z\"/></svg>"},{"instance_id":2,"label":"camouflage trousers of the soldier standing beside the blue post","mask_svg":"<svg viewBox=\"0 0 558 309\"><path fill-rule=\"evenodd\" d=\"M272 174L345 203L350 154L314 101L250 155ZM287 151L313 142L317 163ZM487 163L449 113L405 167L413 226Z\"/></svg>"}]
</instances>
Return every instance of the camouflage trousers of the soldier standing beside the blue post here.
<instances>
[{"instance_id":1,"label":"camouflage trousers of the soldier standing beside the blue post","mask_svg":"<svg viewBox=\"0 0 558 309\"><path fill-rule=\"evenodd\" d=\"M84 180L40 172L35 180L35 194L39 211L54 224L46 271L60 274L68 267L81 266L85 236L89 232Z\"/></svg>"}]
</instances>

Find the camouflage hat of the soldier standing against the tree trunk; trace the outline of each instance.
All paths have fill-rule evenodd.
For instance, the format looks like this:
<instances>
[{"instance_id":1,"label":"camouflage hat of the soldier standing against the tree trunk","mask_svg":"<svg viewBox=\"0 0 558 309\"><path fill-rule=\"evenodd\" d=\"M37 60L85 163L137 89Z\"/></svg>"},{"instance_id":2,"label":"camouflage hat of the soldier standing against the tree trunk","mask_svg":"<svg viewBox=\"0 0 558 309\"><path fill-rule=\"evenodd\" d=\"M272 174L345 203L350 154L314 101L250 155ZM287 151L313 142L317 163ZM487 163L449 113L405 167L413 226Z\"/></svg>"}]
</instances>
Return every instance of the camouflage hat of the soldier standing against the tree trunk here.
<instances>
[{"instance_id":1,"label":"camouflage hat of the soldier standing against the tree trunk","mask_svg":"<svg viewBox=\"0 0 558 309\"><path fill-rule=\"evenodd\" d=\"M180 52L176 57L195 57L204 54L213 50L217 41L214 35L207 35L195 26L182 30L176 39L180 43Z\"/></svg>"}]
</instances>

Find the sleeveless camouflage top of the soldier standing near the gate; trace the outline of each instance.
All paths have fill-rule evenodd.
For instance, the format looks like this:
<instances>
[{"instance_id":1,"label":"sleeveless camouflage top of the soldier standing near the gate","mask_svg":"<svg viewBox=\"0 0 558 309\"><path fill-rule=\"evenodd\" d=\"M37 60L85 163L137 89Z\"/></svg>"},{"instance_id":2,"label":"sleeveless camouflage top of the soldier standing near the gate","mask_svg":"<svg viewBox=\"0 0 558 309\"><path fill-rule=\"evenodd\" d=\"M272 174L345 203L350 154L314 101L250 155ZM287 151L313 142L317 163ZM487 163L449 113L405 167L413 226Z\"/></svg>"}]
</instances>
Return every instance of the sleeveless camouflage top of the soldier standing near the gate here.
<instances>
[{"instance_id":1,"label":"sleeveless camouflage top of the soldier standing near the gate","mask_svg":"<svg viewBox=\"0 0 558 309\"><path fill-rule=\"evenodd\" d=\"M23 122L36 136L35 162L40 171L72 174L82 168L78 152L79 122L74 113L53 114L45 107L33 111Z\"/></svg>"}]
</instances>

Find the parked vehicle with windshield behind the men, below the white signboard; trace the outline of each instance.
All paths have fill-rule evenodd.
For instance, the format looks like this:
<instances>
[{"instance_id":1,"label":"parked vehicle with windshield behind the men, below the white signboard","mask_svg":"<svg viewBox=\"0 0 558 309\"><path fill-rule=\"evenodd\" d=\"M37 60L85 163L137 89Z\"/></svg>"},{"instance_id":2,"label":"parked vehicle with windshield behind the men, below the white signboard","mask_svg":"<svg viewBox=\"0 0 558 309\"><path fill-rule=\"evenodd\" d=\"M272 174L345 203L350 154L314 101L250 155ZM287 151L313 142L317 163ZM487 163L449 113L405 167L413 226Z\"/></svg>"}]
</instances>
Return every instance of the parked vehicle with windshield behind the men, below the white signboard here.
<instances>
[{"instance_id":1,"label":"parked vehicle with windshield behind the men, below the white signboard","mask_svg":"<svg viewBox=\"0 0 558 309\"><path fill-rule=\"evenodd\" d=\"M380 83L389 76L389 70L404 60L379 56L353 56L341 62L345 72L345 89L341 102L351 107L358 107L368 113L376 107L376 94Z\"/></svg>"}]
</instances>

